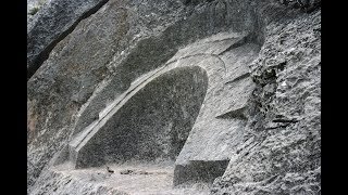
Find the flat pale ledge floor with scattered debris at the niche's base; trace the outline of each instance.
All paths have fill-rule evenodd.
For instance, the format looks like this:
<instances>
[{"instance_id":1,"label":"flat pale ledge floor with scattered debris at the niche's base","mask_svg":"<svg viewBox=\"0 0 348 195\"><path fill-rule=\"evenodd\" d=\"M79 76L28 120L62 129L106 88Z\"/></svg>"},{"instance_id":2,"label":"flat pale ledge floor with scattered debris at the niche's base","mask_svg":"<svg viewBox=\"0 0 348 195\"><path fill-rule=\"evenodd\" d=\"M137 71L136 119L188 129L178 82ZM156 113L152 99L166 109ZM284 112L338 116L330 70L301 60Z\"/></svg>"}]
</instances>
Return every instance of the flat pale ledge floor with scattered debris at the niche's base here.
<instances>
[{"instance_id":1,"label":"flat pale ledge floor with scattered debris at the niche's base","mask_svg":"<svg viewBox=\"0 0 348 195\"><path fill-rule=\"evenodd\" d=\"M107 166L113 172L109 172ZM210 193L209 185L206 183L173 187L174 165L171 162L107 166L72 169L71 165L64 164L54 167L54 171L132 195L204 195Z\"/></svg>"}]
</instances>

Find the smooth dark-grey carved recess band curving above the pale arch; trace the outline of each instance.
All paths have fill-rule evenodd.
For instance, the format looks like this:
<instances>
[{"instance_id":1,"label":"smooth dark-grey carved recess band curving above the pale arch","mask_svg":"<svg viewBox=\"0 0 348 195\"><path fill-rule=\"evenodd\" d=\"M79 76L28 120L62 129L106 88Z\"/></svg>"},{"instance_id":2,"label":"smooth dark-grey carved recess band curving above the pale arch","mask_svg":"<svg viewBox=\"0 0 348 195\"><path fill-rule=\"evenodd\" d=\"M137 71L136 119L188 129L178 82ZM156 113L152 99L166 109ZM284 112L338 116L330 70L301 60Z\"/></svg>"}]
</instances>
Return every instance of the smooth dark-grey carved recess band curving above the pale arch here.
<instances>
[{"instance_id":1,"label":"smooth dark-grey carved recess band curving above the pale arch","mask_svg":"<svg viewBox=\"0 0 348 195\"><path fill-rule=\"evenodd\" d=\"M103 95L92 96L86 107L80 109L72 135L83 131L96 120L99 112L105 107L108 100L113 100L125 92L130 82L142 74L162 66L177 53L181 47L231 29L235 32L250 32L248 41L249 38L259 40L259 35L254 35L254 31L259 30L260 25L258 23L260 22L251 6L249 4L246 6L243 1L229 2L227 6L226 4L221 6L213 2L209 6L202 8L201 12L194 13L187 20L170 25L159 36L140 40L129 55L120 60L121 63L117 62L117 65L113 67L116 76L102 89L100 93L103 93ZM231 9L232 6L239 8L239 10ZM238 13L229 13L227 17L221 17L221 13L226 13L229 9L231 11L238 10ZM232 15L234 16L232 17ZM219 55L215 56L219 57ZM139 64L141 66L138 66ZM119 89L115 90L115 88Z\"/></svg>"}]
</instances>

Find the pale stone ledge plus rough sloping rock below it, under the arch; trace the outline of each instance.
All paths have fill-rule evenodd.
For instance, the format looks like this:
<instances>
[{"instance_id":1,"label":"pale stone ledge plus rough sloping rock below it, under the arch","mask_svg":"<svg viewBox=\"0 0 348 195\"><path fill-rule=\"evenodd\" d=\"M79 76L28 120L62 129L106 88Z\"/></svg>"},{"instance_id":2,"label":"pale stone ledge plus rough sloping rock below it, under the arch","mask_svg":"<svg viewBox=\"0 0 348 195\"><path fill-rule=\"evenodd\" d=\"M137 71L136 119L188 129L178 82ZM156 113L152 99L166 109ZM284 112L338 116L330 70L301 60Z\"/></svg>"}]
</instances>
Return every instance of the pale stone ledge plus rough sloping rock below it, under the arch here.
<instances>
[{"instance_id":1,"label":"pale stone ledge plus rough sloping rock below it, under the arch","mask_svg":"<svg viewBox=\"0 0 348 195\"><path fill-rule=\"evenodd\" d=\"M210 193L209 186L204 184L196 184L190 188L179 186L173 188L173 165L171 164L109 166L115 170L114 173L108 173L104 167L85 171L55 167L45 173L45 182L40 182L32 194L195 195L199 193L208 195Z\"/></svg>"}]
</instances>

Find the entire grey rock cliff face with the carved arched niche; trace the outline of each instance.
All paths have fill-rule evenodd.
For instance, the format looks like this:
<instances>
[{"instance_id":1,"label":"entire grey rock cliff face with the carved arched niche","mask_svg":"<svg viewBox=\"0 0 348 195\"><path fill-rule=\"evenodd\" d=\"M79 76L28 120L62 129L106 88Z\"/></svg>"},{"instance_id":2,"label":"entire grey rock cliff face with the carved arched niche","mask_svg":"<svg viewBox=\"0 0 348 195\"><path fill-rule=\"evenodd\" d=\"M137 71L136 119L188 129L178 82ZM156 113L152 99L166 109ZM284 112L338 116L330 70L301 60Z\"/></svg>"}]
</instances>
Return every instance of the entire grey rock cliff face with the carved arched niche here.
<instances>
[{"instance_id":1,"label":"entire grey rock cliff face with the carved arched niche","mask_svg":"<svg viewBox=\"0 0 348 195\"><path fill-rule=\"evenodd\" d=\"M320 1L52 0L28 38L28 194L321 194Z\"/></svg>"}]
</instances>

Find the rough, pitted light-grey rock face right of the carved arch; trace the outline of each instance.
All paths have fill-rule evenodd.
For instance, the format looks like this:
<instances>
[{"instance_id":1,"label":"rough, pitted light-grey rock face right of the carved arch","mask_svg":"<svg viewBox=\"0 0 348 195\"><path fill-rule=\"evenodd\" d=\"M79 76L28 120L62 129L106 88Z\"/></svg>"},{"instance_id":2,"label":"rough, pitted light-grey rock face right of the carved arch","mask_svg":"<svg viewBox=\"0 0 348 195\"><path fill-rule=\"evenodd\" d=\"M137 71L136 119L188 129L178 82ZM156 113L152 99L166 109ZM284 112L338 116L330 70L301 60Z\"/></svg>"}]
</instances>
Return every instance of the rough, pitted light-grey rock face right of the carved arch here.
<instances>
[{"instance_id":1,"label":"rough, pitted light-grey rock face right of the carved arch","mask_svg":"<svg viewBox=\"0 0 348 195\"><path fill-rule=\"evenodd\" d=\"M223 194L321 193L320 12L268 25L245 141L224 176Z\"/></svg>"}]
</instances>

